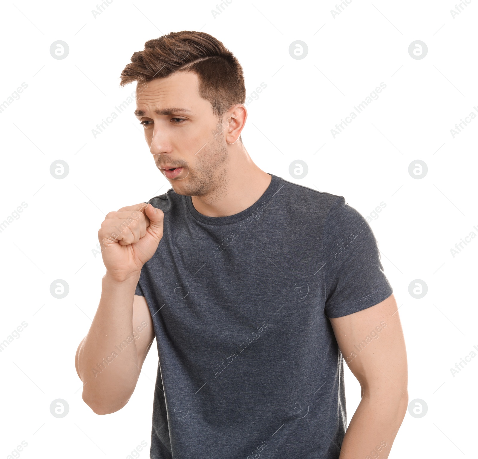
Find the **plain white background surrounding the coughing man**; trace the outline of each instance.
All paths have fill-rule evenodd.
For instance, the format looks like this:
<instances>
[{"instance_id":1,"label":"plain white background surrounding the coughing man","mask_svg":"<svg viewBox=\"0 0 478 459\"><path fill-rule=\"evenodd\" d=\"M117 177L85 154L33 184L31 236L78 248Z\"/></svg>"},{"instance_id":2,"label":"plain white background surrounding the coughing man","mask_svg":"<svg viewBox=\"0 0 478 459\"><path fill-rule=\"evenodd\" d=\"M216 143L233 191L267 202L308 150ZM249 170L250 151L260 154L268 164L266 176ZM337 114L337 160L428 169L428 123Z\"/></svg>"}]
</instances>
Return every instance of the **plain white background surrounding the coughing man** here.
<instances>
[{"instance_id":1,"label":"plain white background surrounding the coughing man","mask_svg":"<svg viewBox=\"0 0 478 459\"><path fill-rule=\"evenodd\" d=\"M456 256L450 249L478 235L478 120L455 138L450 129L478 106L478 1L453 18L455 4L352 0L334 18L335 0L233 0L214 17L214 0L113 0L95 18L94 2L5 3L0 103L28 87L0 113L0 222L27 207L0 233L0 341L28 326L0 353L1 457L22 440L25 459L126 458L142 440L139 457L149 457L155 342L129 403L107 416L82 401L74 358L105 272L92 252L101 221L170 188L134 104L96 138L92 129L134 91L119 86L132 53L182 30L210 33L235 53L248 95L267 85L248 105L242 133L261 169L342 195L364 216L386 203L370 225L400 306L409 398L428 406L421 418L407 412L390 458L476 457L478 358L455 376L450 368L478 347L478 238ZM49 52L57 40L69 45L63 60ZM289 55L296 40L308 46L304 59ZM416 40L428 46L424 59L408 53ZM380 82L379 98L334 138L335 124ZM69 165L65 179L50 174L56 160ZM295 160L308 166L303 179L289 174ZM408 172L414 160L428 167L422 179ZM69 285L64 299L50 294L55 279ZM414 279L428 286L422 299L409 294ZM350 420L360 388L347 366L345 378ZM69 404L60 419L49 408L57 398Z\"/></svg>"}]
</instances>

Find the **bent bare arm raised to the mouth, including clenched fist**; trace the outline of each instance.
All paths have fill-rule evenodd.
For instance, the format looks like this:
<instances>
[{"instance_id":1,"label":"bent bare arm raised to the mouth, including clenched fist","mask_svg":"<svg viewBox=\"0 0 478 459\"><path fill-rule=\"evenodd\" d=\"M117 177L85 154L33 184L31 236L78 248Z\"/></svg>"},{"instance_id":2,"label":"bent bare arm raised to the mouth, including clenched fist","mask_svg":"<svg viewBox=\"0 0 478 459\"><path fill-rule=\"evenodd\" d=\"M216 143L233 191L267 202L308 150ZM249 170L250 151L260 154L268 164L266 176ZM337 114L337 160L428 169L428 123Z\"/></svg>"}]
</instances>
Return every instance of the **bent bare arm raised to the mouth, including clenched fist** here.
<instances>
[{"instance_id":1,"label":"bent bare arm raised to the mouth, including clenched fist","mask_svg":"<svg viewBox=\"0 0 478 459\"><path fill-rule=\"evenodd\" d=\"M108 213L98 231L107 271L98 310L75 356L82 398L97 414L128 403L154 339L146 300L134 293L162 236L163 212L144 203Z\"/></svg>"}]
</instances>

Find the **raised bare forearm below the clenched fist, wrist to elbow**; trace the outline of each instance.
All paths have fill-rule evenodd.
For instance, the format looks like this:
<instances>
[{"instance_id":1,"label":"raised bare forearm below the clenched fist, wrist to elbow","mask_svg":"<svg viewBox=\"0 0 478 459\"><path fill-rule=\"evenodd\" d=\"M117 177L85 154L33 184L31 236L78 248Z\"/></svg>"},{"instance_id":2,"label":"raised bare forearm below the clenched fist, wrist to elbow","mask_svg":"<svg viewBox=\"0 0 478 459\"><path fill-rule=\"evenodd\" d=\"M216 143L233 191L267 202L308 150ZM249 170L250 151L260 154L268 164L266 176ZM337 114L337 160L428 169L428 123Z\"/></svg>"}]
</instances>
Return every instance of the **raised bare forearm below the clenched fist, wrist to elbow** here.
<instances>
[{"instance_id":1,"label":"raised bare forearm below the clenched fist, wrist to elbow","mask_svg":"<svg viewBox=\"0 0 478 459\"><path fill-rule=\"evenodd\" d=\"M98 310L78 347L76 367L84 384L83 400L98 414L112 413L126 405L138 381L136 343L129 338L133 337L138 279L139 274L122 282L108 273L103 277Z\"/></svg>"}]
</instances>

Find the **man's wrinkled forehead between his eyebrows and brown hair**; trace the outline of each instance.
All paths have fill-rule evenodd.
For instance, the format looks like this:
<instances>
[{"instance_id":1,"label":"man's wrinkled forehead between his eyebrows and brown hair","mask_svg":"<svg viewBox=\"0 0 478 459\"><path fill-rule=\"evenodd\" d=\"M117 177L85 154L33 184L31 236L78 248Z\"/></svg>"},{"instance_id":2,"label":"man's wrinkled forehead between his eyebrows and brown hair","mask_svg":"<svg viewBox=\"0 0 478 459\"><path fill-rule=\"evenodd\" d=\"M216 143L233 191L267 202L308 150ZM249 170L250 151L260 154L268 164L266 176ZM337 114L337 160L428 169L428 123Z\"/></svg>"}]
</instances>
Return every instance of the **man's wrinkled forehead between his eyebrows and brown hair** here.
<instances>
[{"instance_id":1,"label":"man's wrinkled forehead between his eyebrows and brown hair","mask_svg":"<svg viewBox=\"0 0 478 459\"><path fill-rule=\"evenodd\" d=\"M149 112L164 107L182 107L190 110L207 107L209 102L199 96L198 83L197 75L191 72L178 72L166 78L138 83L137 109Z\"/></svg>"}]
</instances>

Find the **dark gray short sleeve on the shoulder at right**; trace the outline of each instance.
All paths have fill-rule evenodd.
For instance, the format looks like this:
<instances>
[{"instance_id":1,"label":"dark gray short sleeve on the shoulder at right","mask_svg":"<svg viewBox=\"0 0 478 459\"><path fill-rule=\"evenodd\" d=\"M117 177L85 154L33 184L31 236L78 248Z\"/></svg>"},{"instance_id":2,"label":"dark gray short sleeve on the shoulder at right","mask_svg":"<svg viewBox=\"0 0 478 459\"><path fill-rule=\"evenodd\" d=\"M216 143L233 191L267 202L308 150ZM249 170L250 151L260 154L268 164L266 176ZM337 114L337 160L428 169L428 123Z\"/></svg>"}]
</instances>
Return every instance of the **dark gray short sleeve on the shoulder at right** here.
<instances>
[{"instance_id":1,"label":"dark gray short sleeve on the shoulder at right","mask_svg":"<svg viewBox=\"0 0 478 459\"><path fill-rule=\"evenodd\" d=\"M327 317L353 314L392 294L372 229L343 196L327 214L323 253Z\"/></svg>"}]
</instances>

